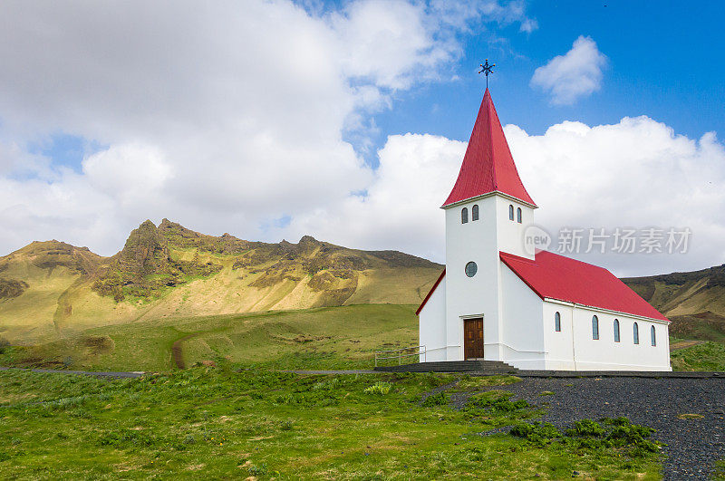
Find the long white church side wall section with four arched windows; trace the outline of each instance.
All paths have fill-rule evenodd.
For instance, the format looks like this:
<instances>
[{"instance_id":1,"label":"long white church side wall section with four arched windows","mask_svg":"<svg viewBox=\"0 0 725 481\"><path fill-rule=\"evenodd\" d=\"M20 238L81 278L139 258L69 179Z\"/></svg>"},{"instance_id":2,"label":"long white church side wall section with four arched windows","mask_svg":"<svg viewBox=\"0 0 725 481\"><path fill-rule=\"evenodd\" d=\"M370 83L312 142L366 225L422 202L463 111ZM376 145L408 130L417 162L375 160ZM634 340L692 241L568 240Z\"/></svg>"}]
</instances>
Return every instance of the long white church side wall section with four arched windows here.
<instances>
[{"instance_id":1,"label":"long white church side wall section with four arched windows","mask_svg":"<svg viewBox=\"0 0 725 481\"><path fill-rule=\"evenodd\" d=\"M619 313L573 307L575 370L672 370L667 325ZM593 339L592 317L599 320L599 339ZM619 321L620 341L614 342L614 319ZM639 344L633 325L639 327ZM650 329L657 334L652 346Z\"/></svg>"}]
</instances>

